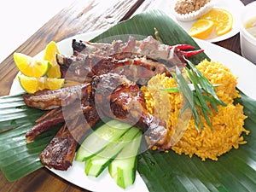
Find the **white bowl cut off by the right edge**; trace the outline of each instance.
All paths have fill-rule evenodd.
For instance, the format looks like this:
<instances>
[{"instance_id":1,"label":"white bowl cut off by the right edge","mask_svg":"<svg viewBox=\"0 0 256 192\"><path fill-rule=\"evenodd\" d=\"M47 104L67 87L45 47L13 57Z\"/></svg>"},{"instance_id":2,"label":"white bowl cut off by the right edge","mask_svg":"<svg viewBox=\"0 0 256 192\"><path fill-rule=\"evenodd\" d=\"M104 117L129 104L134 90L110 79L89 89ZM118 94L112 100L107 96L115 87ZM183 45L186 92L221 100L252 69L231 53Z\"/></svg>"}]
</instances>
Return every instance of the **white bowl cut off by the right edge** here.
<instances>
[{"instance_id":1,"label":"white bowl cut off by the right edge","mask_svg":"<svg viewBox=\"0 0 256 192\"><path fill-rule=\"evenodd\" d=\"M248 20L256 18L256 2L249 3L241 13L240 43L241 55L256 64L256 38L245 28Z\"/></svg>"}]
</instances>

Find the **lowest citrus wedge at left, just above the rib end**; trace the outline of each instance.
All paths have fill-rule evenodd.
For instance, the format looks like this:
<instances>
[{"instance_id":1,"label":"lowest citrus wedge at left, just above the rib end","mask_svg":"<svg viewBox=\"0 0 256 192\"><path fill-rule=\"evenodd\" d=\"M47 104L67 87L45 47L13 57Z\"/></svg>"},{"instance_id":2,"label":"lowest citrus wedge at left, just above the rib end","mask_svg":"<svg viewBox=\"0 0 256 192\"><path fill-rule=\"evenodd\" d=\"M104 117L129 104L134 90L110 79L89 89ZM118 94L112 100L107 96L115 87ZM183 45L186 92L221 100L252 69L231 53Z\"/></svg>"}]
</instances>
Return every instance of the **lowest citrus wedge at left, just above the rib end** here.
<instances>
[{"instance_id":1,"label":"lowest citrus wedge at left, just above the rib end","mask_svg":"<svg viewBox=\"0 0 256 192\"><path fill-rule=\"evenodd\" d=\"M38 90L57 90L61 89L65 79L55 79L47 77L27 77L26 75L18 75L20 85L27 93L35 93Z\"/></svg>"}]
</instances>

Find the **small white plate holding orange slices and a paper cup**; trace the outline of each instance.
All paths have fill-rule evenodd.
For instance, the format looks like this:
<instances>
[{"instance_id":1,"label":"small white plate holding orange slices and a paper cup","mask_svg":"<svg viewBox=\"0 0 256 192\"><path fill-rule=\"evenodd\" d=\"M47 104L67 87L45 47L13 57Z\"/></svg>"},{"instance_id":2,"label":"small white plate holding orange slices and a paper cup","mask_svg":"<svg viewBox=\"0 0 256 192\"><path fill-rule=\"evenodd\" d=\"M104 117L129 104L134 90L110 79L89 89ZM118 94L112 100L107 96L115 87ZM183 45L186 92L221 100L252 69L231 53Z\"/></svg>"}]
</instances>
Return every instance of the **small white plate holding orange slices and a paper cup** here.
<instances>
[{"instance_id":1,"label":"small white plate holding orange slices and a paper cup","mask_svg":"<svg viewBox=\"0 0 256 192\"><path fill-rule=\"evenodd\" d=\"M221 8L230 11L230 13L234 17L234 23L232 30L222 36L219 37L209 37L205 39L208 42L218 42L222 41L227 38L231 38L235 36L240 31L240 15L241 15L241 8L244 7L244 4L241 3L240 0L212 0L214 3L213 8ZM176 19L175 15L173 14L173 8L176 0L161 0L155 6L154 9L160 9L166 12L172 20L175 20L177 24L183 27L186 32L189 32L189 29L193 25L194 21L179 21Z\"/></svg>"}]
</instances>

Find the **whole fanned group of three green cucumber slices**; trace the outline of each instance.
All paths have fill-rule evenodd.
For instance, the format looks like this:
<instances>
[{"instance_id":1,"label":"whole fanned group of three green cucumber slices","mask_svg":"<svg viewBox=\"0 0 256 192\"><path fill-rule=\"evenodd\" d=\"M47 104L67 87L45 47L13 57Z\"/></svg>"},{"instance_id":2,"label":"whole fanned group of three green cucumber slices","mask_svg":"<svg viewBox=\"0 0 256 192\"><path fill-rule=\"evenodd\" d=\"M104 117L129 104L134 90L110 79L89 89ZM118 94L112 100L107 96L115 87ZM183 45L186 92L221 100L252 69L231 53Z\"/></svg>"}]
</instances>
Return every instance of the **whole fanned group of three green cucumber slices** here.
<instances>
[{"instance_id":1,"label":"whole fanned group of three green cucumber slices","mask_svg":"<svg viewBox=\"0 0 256 192\"><path fill-rule=\"evenodd\" d=\"M125 189L135 181L142 135L136 127L110 120L85 138L75 160L84 161L84 172L88 176L98 177L108 166L115 183Z\"/></svg>"}]
</instances>

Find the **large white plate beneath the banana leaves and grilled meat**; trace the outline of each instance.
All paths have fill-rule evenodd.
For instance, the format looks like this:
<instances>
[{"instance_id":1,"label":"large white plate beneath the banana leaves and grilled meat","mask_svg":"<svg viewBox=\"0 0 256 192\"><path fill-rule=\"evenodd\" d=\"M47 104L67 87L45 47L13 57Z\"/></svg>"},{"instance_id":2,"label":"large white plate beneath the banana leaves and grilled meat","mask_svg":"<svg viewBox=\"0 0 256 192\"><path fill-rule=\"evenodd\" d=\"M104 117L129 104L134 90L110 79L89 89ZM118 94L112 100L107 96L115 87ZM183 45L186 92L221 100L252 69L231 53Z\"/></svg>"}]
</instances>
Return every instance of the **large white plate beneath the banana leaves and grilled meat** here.
<instances>
[{"instance_id":1,"label":"large white plate beneath the banana leaves and grilled meat","mask_svg":"<svg viewBox=\"0 0 256 192\"><path fill-rule=\"evenodd\" d=\"M84 33L72 38L67 38L59 42L58 48L62 54L71 55L72 54L72 39L76 38L79 40L90 40L90 38L95 37L102 31ZM232 73L235 76L239 77L238 79L238 88L242 90L247 96L251 96L253 99L256 99L256 66L252 62L247 61L247 59L236 55L228 49L221 48L215 44L210 44L206 41L196 40L196 42L201 46L202 49L205 49L207 55L214 61L220 61L227 67L230 67ZM37 55L38 57L43 56L43 52ZM14 80L10 94L16 94L18 92L23 92L20 88L20 84L17 79ZM108 170L102 172L99 177L87 177L84 174L84 163L79 163L74 161L73 166L70 167L67 171L57 171L55 169L50 169L51 172L54 172L59 177L67 180L70 183L73 183L83 189L88 189L91 191L104 192L106 189L111 192L147 192L147 186L143 182L142 177L137 172L137 177L134 185L128 189L119 188L114 182L113 179L108 175Z\"/></svg>"}]
</instances>

